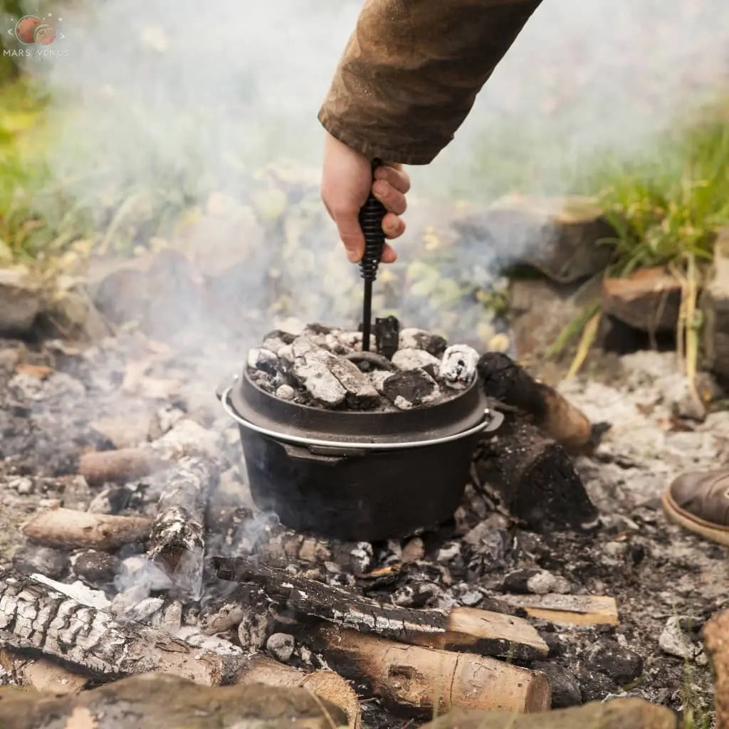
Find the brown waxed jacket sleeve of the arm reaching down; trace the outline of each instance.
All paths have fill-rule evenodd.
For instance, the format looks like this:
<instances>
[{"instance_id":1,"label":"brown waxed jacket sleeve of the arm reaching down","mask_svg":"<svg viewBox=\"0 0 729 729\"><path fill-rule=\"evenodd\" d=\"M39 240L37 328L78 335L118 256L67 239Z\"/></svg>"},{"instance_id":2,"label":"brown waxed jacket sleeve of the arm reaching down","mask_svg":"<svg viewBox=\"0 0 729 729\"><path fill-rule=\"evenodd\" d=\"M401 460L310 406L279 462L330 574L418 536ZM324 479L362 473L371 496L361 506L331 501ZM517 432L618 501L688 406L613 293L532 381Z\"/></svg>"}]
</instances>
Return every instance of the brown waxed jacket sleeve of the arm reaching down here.
<instances>
[{"instance_id":1,"label":"brown waxed jacket sleeve of the arm reaching down","mask_svg":"<svg viewBox=\"0 0 729 729\"><path fill-rule=\"evenodd\" d=\"M319 120L368 157L431 162L540 1L365 0Z\"/></svg>"}]
</instances>

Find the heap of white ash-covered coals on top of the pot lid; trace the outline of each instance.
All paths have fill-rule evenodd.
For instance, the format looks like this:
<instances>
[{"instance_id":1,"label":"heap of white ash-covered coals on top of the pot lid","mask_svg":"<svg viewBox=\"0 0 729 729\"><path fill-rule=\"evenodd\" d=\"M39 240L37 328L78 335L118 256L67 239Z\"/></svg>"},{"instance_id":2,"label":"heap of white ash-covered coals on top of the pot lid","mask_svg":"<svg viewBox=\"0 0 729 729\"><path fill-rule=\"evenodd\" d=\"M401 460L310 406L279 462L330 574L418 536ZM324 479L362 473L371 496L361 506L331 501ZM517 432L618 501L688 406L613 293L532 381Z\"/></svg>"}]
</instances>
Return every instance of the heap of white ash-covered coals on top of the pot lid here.
<instances>
[{"instance_id":1,"label":"heap of white ash-covered coals on top of the pot lid","mask_svg":"<svg viewBox=\"0 0 729 729\"><path fill-rule=\"evenodd\" d=\"M397 350L362 351L362 334L308 324L275 330L249 351L252 381L279 399L339 410L411 410L444 402L476 376L478 354L433 332L399 332Z\"/></svg>"}]
</instances>

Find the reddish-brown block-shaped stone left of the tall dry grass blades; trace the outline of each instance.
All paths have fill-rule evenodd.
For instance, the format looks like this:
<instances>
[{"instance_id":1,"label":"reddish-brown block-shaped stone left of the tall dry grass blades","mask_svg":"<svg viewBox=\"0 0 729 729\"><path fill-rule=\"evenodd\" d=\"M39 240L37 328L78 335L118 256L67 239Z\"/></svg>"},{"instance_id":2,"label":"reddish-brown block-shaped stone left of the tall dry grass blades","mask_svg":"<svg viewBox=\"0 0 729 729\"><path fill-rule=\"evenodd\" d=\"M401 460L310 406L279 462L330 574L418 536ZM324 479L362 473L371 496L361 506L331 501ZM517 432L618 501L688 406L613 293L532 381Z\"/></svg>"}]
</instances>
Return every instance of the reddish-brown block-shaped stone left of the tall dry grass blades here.
<instances>
[{"instance_id":1,"label":"reddish-brown block-shaped stone left of the tall dry grass blades","mask_svg":"<svg viewBox=\"0 0 729 729\"><path fill-rule=\"evenodd\" d=\"M604 278L600 292L604 313L642 332L676 328L681 284L664 268L640 268L624 278Z\"/></svg>"}]
</instances>

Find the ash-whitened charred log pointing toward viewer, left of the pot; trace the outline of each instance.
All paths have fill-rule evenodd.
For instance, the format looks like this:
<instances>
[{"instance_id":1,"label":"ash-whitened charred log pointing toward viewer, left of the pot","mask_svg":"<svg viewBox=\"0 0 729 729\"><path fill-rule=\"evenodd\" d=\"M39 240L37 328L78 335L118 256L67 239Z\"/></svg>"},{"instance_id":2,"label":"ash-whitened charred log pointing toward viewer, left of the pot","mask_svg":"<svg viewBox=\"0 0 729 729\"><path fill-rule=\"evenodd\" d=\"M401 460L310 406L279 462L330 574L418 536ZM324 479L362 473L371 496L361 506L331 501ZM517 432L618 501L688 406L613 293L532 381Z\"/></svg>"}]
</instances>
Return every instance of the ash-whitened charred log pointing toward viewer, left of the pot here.
<instances>
[{"instance_id":1,"label":"ash-whitened charred log pointing toward viewer, left of the pot","mask_svg":"<svg viewBox=\"0 0 729 729\"><path fill-rule=\"evenodd\" d=\"M149 558L183 593L200 597L205 556L205 510L217 467L205 456L185 456L169 471L157 502Z\"/></svg>"}]
</instances>

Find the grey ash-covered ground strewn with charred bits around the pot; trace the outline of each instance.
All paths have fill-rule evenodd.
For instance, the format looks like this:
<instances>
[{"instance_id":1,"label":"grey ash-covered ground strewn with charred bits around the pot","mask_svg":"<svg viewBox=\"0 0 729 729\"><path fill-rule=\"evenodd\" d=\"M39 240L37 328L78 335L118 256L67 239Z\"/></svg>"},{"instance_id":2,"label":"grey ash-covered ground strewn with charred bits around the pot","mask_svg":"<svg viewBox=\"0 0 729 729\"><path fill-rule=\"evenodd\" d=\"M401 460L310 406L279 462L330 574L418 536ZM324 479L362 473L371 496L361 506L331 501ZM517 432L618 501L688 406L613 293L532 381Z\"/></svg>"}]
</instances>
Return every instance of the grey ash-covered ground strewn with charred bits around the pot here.
<instances>
[{"instance_id":1,"label":"grey ash-covered ground strewn with charred bits around the pot","mask_svg":"<svg viewBox=\"0 0 729 729\"><path fill-rule=\"evenodd\" d=\"M225 346L173 350L136 332L85 349L2 340L0 564L13 561L26 572L77 580L72 555L26 543L20 524L53 504L152 513L146 480L90 487L77 475L77 459L85 450L149 443L180 418L219 437L228 461L208 510L208 554L250 552L281 531L273 518L251 520L238 432L214 398L217 375L240 370L244 354ZM683 391L674 354L611 359L604 372L561 386L594 421L612 424L596 452L578 459L601 513L597 531L521 529L488 494L469 485L455 518L439 531L397 542L330 545L321 564L308 564L308 574L318 570L321 580L410 607L478 606L518 590L613 596L617 627L533 620L550 656L529 665L550 674L553 705L627 693L678 710L684 703L709 709L709 667L698 631L729 604L728 553L668 523L660 496L680 472L725 465L729 412L710 413L703 423L676 415ZM117 572L129 556L116 555ZM394 563L402 568L389 577L362 579ZM92 586L112 597L120 583ZM214 579L206 589L217 589ZM194 622L199 614L192 606L184 619ZM300 647L292 660L321 664ZM390 717L376 701L364 701L363 708L370 728L418 725Z\"/></svg>"}]
</instances>

